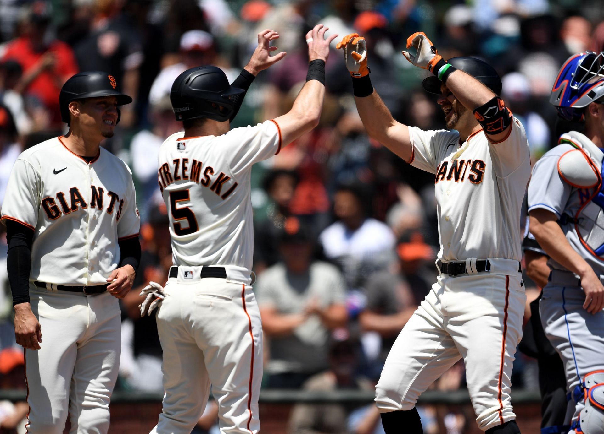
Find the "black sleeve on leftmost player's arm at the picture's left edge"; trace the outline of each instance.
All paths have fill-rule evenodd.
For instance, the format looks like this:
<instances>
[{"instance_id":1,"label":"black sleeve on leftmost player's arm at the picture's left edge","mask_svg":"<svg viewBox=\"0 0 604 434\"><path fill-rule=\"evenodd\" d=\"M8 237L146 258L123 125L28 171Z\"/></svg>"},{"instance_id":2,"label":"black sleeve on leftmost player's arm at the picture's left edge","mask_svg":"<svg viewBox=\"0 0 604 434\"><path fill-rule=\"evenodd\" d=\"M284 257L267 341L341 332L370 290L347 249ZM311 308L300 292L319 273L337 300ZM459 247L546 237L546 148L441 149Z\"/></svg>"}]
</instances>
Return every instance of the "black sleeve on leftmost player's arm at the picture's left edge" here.
<instances>
[{"instance_id":1,"label":"black sleeve on leftmost player's arm at the picture's left edge","mask_svg":"<svg viewBox=\"0 0 604 434\"><path fill-rule=\"evenodd\" d=\"M7 271L13 306L30 302L31 244L34 231L21 223L5 220L8 240Z\"/></svg>"}]
</instances>

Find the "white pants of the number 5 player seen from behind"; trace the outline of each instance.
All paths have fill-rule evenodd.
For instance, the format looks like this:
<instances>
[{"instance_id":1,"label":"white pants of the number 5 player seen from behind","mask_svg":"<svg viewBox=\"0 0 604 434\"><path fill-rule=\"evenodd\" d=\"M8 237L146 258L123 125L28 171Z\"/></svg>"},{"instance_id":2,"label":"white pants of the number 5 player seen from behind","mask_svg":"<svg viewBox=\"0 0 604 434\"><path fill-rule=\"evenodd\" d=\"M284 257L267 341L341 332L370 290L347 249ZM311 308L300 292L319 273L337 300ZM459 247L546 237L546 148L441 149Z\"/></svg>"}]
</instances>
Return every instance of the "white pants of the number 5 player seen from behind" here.
<instances>
[{"instance_id":1,"label":"white pants of the number 5 player seen from behind","mask_svg":"<svg viewBox=\"0 0 604 434\"><path fill-rule=\"evenodd\" d=\"M164 353L163 410L151 431L189 434L204 412L210 385L223 434L258 433L262 324L251 286L224 278L193 278L165 286L157 326Z\"/></svg>"}]
</instances>

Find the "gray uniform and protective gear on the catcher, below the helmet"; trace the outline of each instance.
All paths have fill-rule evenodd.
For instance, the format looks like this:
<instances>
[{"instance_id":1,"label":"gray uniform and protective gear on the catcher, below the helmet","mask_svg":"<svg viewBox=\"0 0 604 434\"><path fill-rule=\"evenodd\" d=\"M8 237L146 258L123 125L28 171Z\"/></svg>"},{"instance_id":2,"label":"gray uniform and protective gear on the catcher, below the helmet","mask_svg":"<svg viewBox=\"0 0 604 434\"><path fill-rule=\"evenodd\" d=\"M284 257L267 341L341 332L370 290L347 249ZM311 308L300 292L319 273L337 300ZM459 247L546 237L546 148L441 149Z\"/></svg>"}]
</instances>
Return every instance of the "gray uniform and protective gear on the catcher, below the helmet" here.
<instances>
[{"instance_id":1,"label":"gray uniform and protective gear on the catcher, below the helmet","mask_svg":"<svg viewBox=\"0 0 604 434\"><path fill-rule=\"evenodd\" d=\"M570 245L602 279L604 155L576 131L563 134L559 143L533 168L528 211L555 213ZM604 310L591 315L583 309L585 293L579 278L551 258L548 265L551 273L539 311L545 334L565 366L570 407L566 422L572 423L570 433L602 433L604 385L596 385L604 383ZM597 429L586 430L588 426Z\"/></svg>"}]
</instances>

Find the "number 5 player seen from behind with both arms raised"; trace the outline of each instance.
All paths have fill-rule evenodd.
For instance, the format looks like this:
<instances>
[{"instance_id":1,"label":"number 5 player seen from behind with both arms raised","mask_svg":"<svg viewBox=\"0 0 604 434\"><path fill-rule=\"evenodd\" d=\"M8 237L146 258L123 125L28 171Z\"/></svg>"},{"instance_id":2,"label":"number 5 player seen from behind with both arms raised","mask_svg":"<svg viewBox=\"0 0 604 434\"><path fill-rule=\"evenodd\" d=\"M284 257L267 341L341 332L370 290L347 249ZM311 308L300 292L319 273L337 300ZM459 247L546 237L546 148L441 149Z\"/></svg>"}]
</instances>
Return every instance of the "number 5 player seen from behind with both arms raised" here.
<instances>
[{"instance_id":1,"label":"number 5 player seen from behind with both arms raised","mask_svg":"<svg viewBox=\"0 0 604 434\"><path fill-rule=\"evenodd\" d=\"M184 132L162 144L158 181L170 210L175 265L165 289L152 282L141 292L147 294L141 314L161 302L157 325L165 396L153 433L190 433L204 411L210 384L220 432L259 432L262 326L250 286L250 174L254 163L278 154L318 124L325 61L337 36L325 39L326 30L317 25L306 35L306 84L292 109L276 119L230 130L251 79L284 56L269 55L275 31L259 33L259 45L233 86L214 66L188 69L172 86L172 107Z\"/></svg>"}]
</instances>

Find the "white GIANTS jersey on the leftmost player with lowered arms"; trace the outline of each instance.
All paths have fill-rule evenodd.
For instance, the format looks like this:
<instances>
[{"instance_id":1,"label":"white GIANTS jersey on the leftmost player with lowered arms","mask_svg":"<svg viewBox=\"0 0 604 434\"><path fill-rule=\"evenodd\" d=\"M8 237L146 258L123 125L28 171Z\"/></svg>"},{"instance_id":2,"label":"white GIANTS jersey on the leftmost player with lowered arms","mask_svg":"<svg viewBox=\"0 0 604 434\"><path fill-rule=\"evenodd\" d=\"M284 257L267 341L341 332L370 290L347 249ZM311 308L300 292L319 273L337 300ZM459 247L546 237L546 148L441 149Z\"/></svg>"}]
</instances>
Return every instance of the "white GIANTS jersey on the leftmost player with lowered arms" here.
<instances>
[{"instance_id":1,"label":"white GIANTS jersey on the leftmost player with lowered arms","mask_svg":"<svg viewBox=\"0 0 604 434\"><path fill-rule=\"evenodd\" d=\"M120 263L118 240L140 228L126 164L103 148L88 163L62 136L16 160L1 218L34 230L30 280L59 285L106 284Z\"/></svg>"}]
</instances>

